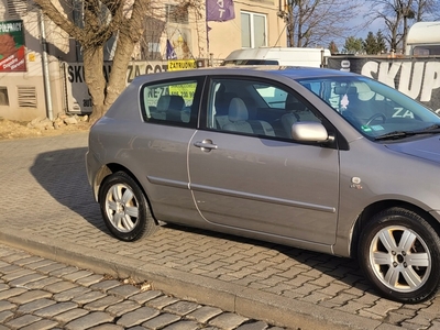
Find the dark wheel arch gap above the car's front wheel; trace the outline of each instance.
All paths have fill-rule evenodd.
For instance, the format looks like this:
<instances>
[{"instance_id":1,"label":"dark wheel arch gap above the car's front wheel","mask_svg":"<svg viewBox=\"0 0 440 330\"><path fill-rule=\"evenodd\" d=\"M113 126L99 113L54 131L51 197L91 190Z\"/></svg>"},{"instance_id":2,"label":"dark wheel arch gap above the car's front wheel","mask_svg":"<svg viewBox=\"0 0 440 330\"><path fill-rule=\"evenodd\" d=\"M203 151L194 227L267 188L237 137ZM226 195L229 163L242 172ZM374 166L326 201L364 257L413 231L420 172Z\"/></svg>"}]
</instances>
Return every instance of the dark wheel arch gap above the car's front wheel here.
<instances>
[{"instance_id":1,"label":"dark wheel arch gap above the car's front wheel","mask_svg":"<svg viewBox=\"0 0 440 330\"><path fill-rule=\"evenodd\" d=\"M433 228L433 230L440 237L440 222L437 221L437 219L432 217L432 215L430 215L428 211L424 210L419 206L403 200L381 200L367 206L355 220L350 244L351 257L355 257L358 255L358 245L361 233L363 232L363 229L366 227L366 224L373 221L373 216L386 209L395 207L407 209L419 215Z\"/></svg>"}]
</instances>

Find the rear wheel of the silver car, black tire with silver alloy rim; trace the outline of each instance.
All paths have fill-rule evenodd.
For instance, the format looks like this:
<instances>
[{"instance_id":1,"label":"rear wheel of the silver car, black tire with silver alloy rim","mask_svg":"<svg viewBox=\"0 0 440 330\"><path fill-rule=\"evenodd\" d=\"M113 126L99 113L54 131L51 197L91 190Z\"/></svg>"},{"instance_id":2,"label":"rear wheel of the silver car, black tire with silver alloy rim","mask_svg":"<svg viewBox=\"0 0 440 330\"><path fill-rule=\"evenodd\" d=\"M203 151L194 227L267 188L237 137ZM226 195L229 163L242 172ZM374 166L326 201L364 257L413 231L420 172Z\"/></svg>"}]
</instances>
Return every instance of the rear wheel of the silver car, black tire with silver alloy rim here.
<instances>
[{"instance_id":1,"label":"rear wheel of the silver car, black tire with silver alloy rim","mask_svg":"<svg viewBox=\"0 0 440 330\"><path fill-rule=\"evenodd\" d=\"M107 228L121 241L136 241L157 229L145 195L124 172L105 178L99 205Z\"/></svg>"}]
</instances>

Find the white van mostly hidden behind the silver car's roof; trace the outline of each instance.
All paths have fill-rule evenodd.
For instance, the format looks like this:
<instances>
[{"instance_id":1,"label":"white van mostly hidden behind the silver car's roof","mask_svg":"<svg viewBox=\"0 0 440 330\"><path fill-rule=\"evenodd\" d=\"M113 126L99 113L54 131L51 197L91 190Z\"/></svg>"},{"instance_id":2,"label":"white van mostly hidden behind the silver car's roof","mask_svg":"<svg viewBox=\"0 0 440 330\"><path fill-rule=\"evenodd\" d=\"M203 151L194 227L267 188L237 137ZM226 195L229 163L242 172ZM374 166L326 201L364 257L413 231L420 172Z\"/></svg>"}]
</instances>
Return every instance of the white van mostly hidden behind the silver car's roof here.
<instances>
[{"instance_id":1,"label":"white van mostly hidden behind the silver car's roof","mask_svg":"<svg viewBox=\"0 0 440 330\"><path fill-rule=\"evenodd\" d=\"M231 65L282 65L323 67L331 56L324 48L258 47L233 51L221 64Z\"/></svg>"}]
</instances>

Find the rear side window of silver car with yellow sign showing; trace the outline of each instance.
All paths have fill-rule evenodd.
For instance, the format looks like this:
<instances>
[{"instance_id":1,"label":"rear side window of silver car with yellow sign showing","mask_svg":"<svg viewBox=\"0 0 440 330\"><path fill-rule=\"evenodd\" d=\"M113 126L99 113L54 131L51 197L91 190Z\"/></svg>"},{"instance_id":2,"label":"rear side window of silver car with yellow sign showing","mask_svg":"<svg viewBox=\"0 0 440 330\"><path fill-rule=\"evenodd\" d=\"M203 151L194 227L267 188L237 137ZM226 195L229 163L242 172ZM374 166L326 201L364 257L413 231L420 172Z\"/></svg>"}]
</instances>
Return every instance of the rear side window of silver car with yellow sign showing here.
<instances>
[{"instance_id":1,"label":"rear side window of silver car with yellow sign showing","mask_svg":"<svg viewBox=\"0 0 440 330\"><path fill-rule=\"evenodd\" d=\"M195 127L199 103L199 79L145 85L141 91L142 116L152 123Z\"/></svg>"}]
</instances>

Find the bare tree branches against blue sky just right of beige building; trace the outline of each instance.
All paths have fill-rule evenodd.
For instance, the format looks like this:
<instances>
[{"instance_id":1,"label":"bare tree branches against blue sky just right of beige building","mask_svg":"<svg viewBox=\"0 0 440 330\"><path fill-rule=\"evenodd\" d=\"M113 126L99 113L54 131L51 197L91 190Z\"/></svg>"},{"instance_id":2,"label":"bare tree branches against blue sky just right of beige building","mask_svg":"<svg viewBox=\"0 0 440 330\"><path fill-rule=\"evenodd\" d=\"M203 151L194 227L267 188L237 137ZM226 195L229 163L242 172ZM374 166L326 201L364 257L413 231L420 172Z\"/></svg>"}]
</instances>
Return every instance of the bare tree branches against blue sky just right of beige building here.
<instances>
[{"instance_id":1,"label":"bare tree branches against blue sky just right of beige building","mask_svg":"<svg viewBox=\"0 0 440 330\"><path fill-rule=\"evenodd\" d=\"M346 22L356 14L360 1L287 0L285 21L293 47L322 46L345 37ZM353 33L352 26L349 33Z\"/></svg>"}]
</instances>

